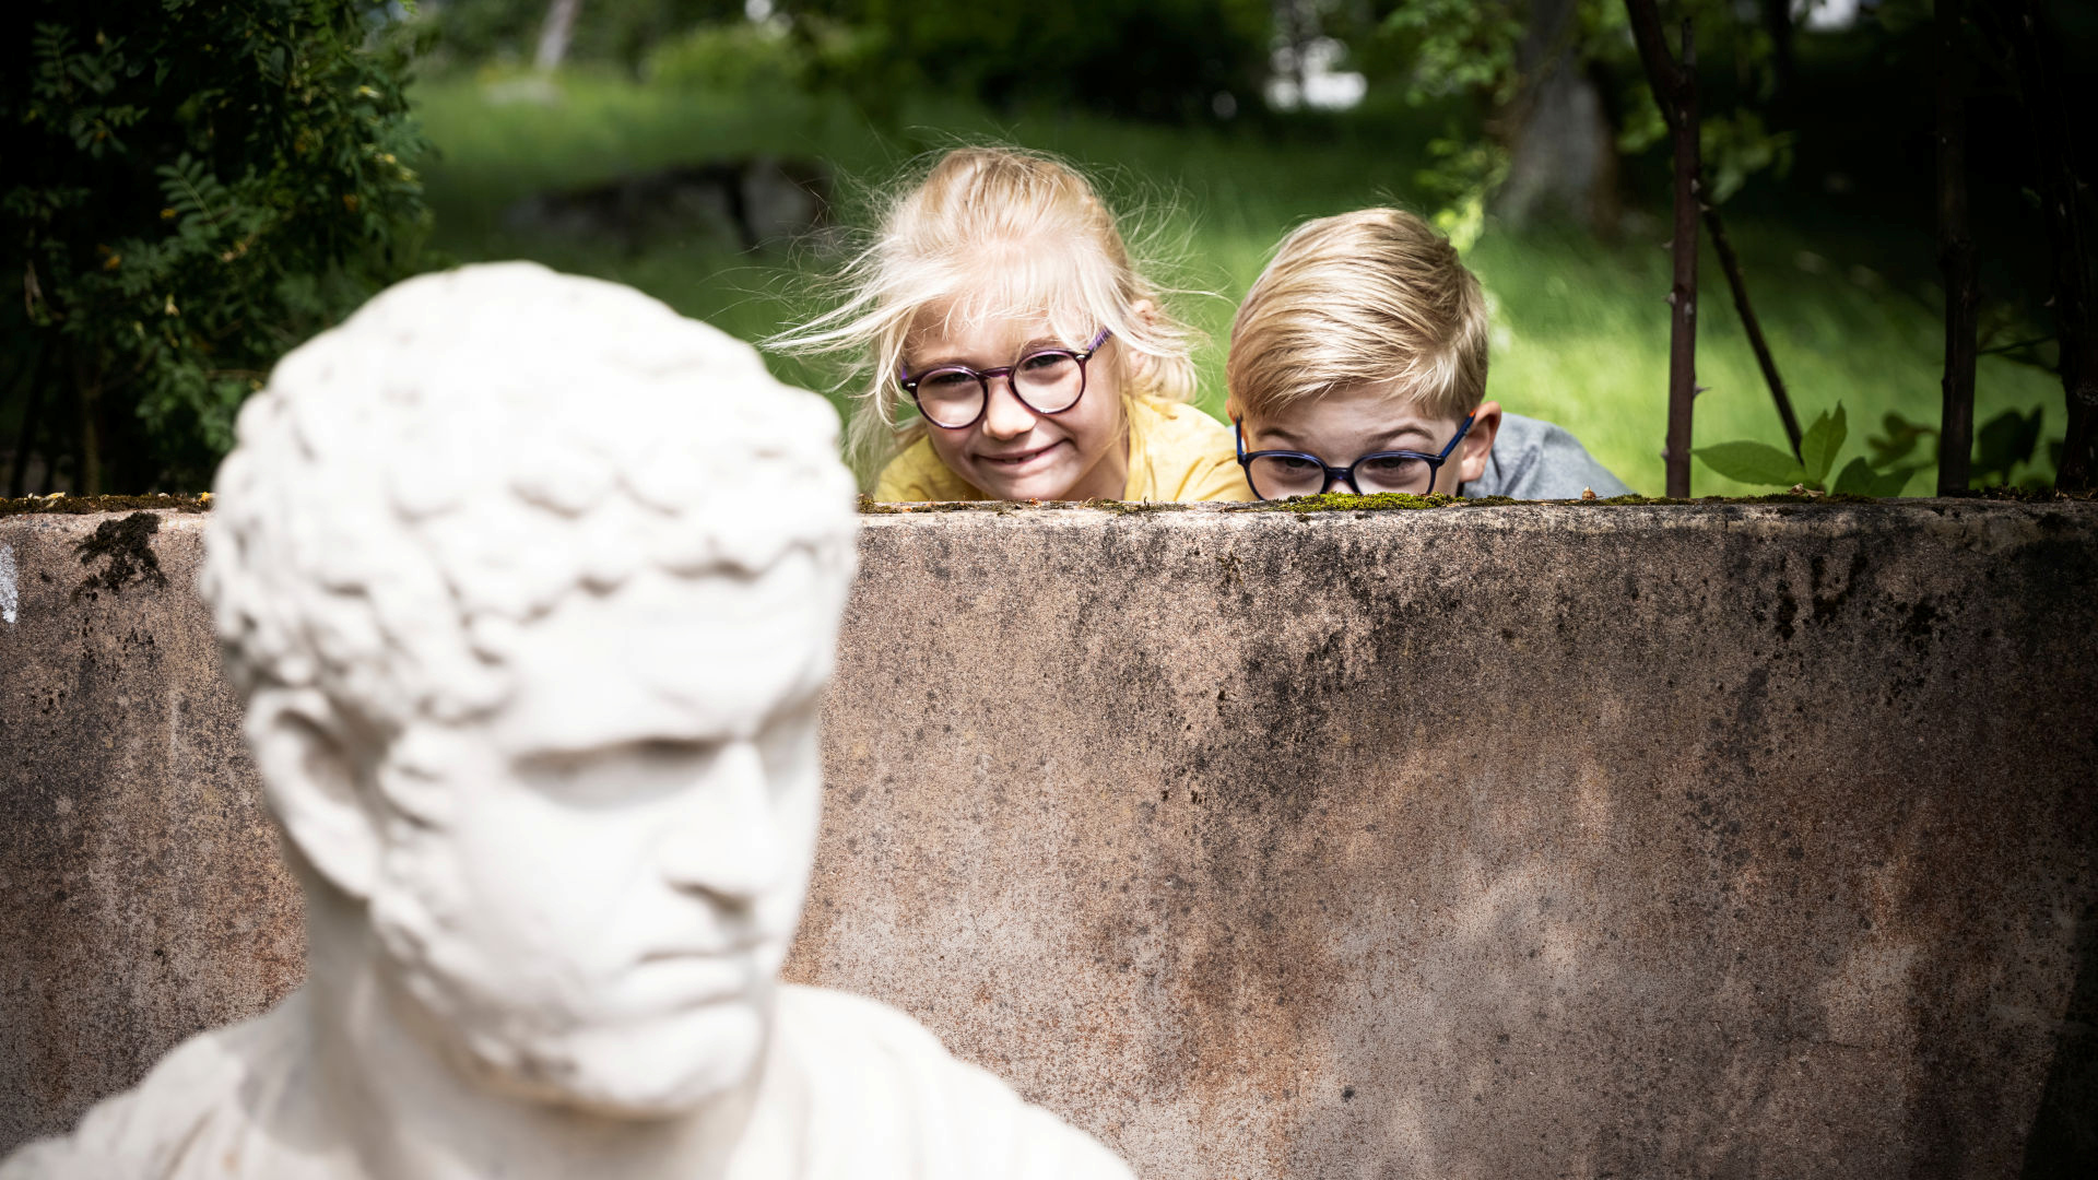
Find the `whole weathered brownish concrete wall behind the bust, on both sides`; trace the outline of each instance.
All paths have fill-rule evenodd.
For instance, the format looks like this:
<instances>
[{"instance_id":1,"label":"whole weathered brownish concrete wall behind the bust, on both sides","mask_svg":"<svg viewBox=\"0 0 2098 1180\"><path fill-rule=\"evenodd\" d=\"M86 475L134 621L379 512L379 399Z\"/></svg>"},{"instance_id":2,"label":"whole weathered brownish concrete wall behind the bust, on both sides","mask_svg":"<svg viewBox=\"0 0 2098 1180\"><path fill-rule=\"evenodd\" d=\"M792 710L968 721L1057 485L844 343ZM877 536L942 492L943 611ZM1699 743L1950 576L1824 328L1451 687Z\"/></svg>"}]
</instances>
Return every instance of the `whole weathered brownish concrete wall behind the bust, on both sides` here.
<instances>
[{"instance_id":1,"label":"whole weathered brownish concrete wall behind the bust, on both sides","mask_svg":"<svg viewBox=\"0 0 2098 1180\"><path fill-rule=\"evenodd\" d=\"M71 603L94 525L0 521L0 1144L296 974L195 523L168 590ZM2012 1176L2090 1134L2098 508L967 512L862 554L789 972L1146 1176Z\"/></svg>"}]
</instances>

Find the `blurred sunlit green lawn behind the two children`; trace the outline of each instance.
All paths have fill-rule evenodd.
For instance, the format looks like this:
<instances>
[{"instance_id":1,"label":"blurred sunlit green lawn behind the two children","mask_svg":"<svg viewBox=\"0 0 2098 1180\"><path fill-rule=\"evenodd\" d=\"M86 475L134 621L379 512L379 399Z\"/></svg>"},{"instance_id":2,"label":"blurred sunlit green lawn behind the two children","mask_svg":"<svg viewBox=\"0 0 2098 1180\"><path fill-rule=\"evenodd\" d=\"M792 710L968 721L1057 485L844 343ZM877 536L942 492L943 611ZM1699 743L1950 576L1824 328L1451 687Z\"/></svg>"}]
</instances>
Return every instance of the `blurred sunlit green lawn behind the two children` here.
<instances>
[{"instance_id":1,"label":"blurred sunlit green lawn behind the two children","mask_svg":"<svg viewBox=\"0 0 2098 1180\"><path fill-rule=\"evenodd\" d=\"M1007 141L1059 151L1087 166L1139 237L1169 260L1166 279L1190 294L1179 311L1200 328L1202 405L1223 403L1223 346L1232 311L1276 239L1303 218L1397 199L1420 208L1412 176L1425 134L1313 126L1280 134L1152 128L1045 113L999 122L971 109L906 107L898 132L877 132L839 105L808 99L707 97L652 90L615 78L571 76L554 101L499 101L474 80L424 82L418 107L438 157L428 162L436 248L459 260L537 258L550 267L631 283L686 315L757 340L816 307L820 250L743 254L694 237L663 239L627 254L619 246L512 233L501 210L543 191L604 181L673 162L738 153L822 157L837 168L845 220L879 185L923 151L961 141ZM1404 130L1404 128L1401 128ZM1928 292L1903 292L1863 269L1863 246L1817 239L1783 225L1731 227L1779 370L1802 420L1842 401L1850 445L1886 412L1934 422L1939 414L1939 321ZM1469 262L1494 298L1487 393L1517 414L1574 430L1643 493L1662 491L1668 384L1666 229L1618 244L1582 233L1490 227ZM1704 330L1697 378L1697 445L1762 439L1783 445L1771 397L1733 313L1718 265L1701 265ZM1924 296L1924 298L1918 298ZM797 384L825 388L822 367L772 357ZM2060 439L2060 382L1985 357L1976 422L2004 409L2046 405ZM2041 445L2041 456L2046 443ZM1840 466L1840 464L1838 464ZM2043 464L2018 475L2052 475ZM1693 491L1756 493L1693 468ZM1920 472L1909 493L1928 493Z\"/></svg>"}]
</instances>

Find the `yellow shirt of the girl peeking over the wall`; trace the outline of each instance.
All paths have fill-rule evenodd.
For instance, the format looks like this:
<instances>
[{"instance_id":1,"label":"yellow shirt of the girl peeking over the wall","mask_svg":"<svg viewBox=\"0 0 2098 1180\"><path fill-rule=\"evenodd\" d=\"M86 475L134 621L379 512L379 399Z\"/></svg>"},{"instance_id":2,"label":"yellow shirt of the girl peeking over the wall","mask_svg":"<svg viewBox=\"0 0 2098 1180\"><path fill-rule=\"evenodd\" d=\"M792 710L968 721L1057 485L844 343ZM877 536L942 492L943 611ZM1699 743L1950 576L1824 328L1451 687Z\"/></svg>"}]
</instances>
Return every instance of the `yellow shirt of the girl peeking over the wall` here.
<instances>
[{"instance_id":1,"label":"yellow shirt of the girl peeking over the wall","mask_svg":"<svg viewBox=\"0 0 2098 1180\"><path fill-rule=\"evenodd\" d=\"M1129 487L1122 500L1253 500L1238 468L1232 428L1194 405L1162 397L1125 397ZM919 439L890 460L875 500L988 500Z\"/></svg>"}]
</instances>

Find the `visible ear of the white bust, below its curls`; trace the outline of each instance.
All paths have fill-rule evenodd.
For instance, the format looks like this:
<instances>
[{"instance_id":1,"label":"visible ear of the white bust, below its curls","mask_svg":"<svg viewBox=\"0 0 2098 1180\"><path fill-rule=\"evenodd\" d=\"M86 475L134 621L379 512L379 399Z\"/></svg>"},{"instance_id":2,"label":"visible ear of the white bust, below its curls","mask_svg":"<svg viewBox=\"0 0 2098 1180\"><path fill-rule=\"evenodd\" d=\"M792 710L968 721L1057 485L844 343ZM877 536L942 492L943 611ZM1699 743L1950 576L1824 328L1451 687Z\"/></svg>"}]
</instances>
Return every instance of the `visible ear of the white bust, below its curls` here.
<instances>
[{"instance_id":1,"label":"visible ear of the white bust, below its curls","mask_svg":"<svg viewBox=\"0 0 2098 1180\"><path fill-rule=\"evenodd\" d=\"M248 701L248 747L292 844L329 884L367 901L380 825L327 697L313 689L258 691Z\"/></svg>"}]
</instances>

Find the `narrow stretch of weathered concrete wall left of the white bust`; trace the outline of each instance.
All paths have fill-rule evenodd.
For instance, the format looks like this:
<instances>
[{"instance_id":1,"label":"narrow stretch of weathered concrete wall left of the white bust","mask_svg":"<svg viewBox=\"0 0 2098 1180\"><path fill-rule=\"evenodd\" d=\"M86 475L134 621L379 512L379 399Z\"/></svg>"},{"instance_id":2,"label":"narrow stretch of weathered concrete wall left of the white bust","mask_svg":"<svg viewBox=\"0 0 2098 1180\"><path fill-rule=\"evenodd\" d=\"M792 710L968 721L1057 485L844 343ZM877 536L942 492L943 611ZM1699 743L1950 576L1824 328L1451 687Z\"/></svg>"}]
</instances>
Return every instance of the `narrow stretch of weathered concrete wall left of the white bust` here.
<instances>
[{"instance_id":1,"label":"narrow stretch of weathered concrete wall left of the white bust","mask_svg":"<svg viewBox=\"0 0 2098 1180\"><path fill-rule=\"evenodd\" d=\"M17 600L0 617L0 1151L304 974L298 888L191 592L199 523L0 519Z\"/></svg>"}]
</instances>

